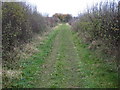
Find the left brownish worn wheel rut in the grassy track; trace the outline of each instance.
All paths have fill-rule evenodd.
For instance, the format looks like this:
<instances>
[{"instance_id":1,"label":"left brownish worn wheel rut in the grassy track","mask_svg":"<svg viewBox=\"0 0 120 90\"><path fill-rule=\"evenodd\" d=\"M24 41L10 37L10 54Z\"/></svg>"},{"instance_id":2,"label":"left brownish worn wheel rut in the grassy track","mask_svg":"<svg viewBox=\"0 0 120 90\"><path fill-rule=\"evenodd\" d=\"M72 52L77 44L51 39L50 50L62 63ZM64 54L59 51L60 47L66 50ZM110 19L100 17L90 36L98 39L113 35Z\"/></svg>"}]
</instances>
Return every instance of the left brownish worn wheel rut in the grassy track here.
<instances>
[{"instance_id":1,"label":"left brownish worn wheel rut in the grassy track","mask_svg":"<svg viewBox=\"0 0 120 90\"><path fill-rule=\"evenodd\" d=\"M58 34L59 35L59 34ZM54 65L56 62L56 56L57 56L57 51L58 51L58 46L59 46L59 36L56 36L53 47L52 47L52 52L46 59L45 63L42 65L42 69L40 72L40 85L38 87L46 87L49 84L49 81L51 80L51 75L52 72L54 71Z\"/></svg>"}]
</instances>

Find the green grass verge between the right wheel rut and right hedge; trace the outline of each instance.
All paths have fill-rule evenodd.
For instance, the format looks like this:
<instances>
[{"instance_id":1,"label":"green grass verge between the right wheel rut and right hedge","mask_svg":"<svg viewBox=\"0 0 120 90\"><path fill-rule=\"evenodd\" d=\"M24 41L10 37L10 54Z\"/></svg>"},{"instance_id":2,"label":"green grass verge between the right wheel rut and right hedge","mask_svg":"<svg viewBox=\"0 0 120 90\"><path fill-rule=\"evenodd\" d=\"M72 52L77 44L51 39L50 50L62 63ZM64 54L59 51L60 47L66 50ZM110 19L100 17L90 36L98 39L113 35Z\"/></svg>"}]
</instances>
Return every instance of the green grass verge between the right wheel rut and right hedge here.
<instances>
[{"instance_id":1,"label":"green grass verge between the right wheel rut and right hedge","mask_svg":"<svg viewBox=\"0 0 120 90\"><path fill-rule=\"evenodd\" d=\"M74 43L80 57L79 72L84 88L117 88L118 72L114 66L97 58L74 33Z\"/></svg>"}]
</instances>

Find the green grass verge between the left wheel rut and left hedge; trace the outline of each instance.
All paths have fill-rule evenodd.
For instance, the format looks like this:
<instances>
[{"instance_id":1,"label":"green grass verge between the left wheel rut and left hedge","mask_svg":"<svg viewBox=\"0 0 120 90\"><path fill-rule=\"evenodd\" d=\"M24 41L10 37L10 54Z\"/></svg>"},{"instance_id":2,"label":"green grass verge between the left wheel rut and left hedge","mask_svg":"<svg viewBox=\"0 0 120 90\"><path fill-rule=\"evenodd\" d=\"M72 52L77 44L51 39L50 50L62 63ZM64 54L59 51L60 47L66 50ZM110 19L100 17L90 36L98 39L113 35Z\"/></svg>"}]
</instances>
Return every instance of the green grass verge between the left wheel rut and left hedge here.
<instances>
[{"instance_id":1,"label":"green grass verge between the left wheel rut and left hedge","mask_svg":"<svg viewBox=\"0 0 120 90\"><path fill-rule=\"evenodd\" d=\"M57 35L57 30L53 30L46 36L46 39L40 42L37 46L39 52L33 54L26 60L20 60L20 67L22 74L16 79L11 79L7 87L22 87L22 88L34 88L37 83L37 77L41 70L40 65L44 63L45 58L51 52L54 38ZM10 79L9 79L10 80ZM8 80L8 81L9 81ZM4 82L5 83L5 82Z\"/></svg>"}]
</instances>

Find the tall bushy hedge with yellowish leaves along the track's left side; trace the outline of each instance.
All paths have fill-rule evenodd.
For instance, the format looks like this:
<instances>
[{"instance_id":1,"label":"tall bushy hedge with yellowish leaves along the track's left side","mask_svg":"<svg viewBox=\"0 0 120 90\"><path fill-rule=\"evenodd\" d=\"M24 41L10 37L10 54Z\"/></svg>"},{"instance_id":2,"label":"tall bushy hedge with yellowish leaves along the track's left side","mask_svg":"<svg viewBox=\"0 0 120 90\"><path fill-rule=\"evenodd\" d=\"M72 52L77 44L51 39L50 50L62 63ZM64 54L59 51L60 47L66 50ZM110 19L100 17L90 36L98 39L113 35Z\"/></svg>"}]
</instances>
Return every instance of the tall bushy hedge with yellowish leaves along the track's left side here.
<instances>
[{"instance_id":1,"label":"tall bushy hedge with yellowish leaves along the track's left side","mask_svg":"<svg viewBox=\"0 0 120 90\"><path fill-rule=\"evenodd\" d=\"M15 47L22 48L22 45L29 43L35 34L43 34L47 26L45 17L38 13L35 7L23 2L3 2L3 65L14 62Z\"/></svg>"}]
</instances>

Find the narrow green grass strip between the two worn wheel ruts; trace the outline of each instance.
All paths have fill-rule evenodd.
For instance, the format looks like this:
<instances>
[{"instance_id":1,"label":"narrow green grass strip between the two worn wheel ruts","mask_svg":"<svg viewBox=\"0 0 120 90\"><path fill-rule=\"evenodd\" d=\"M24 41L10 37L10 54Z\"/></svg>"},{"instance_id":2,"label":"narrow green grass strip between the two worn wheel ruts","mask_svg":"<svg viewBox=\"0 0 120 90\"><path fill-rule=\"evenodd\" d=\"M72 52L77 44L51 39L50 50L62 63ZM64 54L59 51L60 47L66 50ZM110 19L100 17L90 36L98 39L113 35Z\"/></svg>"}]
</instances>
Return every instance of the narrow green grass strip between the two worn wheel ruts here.
<instances>
[{"instance_id":1,"label":"narrow green grass strip between the two worn wheel ruts","mask_svg":"<svg viewBox=\"0 0 120 90\"><path fill-rule=\"evenodd\" d=\"M60 34L60 40L59 42L59 49L57 52L57 58L56 58L56 63L55 63L55 70L52 73L52 83L50 85L51 88L59 88L59 87L65 87L63 85L64 81L69 77L65 77L65 64L66 64L66 33L68 31L68 27L66 27L66 25L62 25L61 27L59 27L61 29L61 31L59 32ZM67 33L68 34L68 33Z\"/></svg>"}]
</instances>

